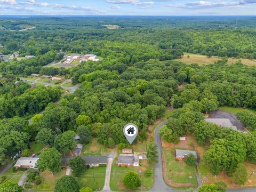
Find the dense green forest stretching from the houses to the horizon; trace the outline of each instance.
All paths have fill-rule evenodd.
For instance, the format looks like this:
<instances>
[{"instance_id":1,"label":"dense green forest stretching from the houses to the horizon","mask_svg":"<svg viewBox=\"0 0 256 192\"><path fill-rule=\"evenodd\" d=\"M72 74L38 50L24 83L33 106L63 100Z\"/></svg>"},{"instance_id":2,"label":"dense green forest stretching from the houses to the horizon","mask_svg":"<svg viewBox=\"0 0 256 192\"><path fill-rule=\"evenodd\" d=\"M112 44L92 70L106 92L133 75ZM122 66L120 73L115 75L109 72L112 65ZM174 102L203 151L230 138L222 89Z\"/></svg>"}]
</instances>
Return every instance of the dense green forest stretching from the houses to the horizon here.
<instances>
[{"instance_id":1,"label":"dense green forest stretching from the houses to the horizon","mask_svg":"<svg viewBox=\"0 0 256 192\"><path fill-rule=\"evenodd\" d=\"M113 141L127 144L123 135L127 122L138 125L137 140L146 140L148 125L164 115L165 107L179 109L162 137L177 142L191 132L201 145L211 141L204 158L214 174L227 170L231 175L237 164L255 163L255 134L220 129L203 121L202 115L218 106L256 109L256 67L239 61L227 64L227 57L256 59L254 21L255 17L205 18L203 23L196 18L161 17L2 19L1 52L36 57L0 63L1 163L5 155L22 153L34 140L64 154L72 145L61 142L73 142L77 132L86 133L84 143L94 137L107 147ZM120 28L106 29L102 26L106 24ZM22 25L36 28L18 31ZM103 59L73 68L43 67L63 58L60 49ZM207 66L188 66L173 60L183 52L223 58ZM61 98L61 87L31 88L19 81L31 73L67 75L81 85ZM28 116L33 115L28 124ZM239 118L254 128L253 120L243 114Z\"/></svg>"}]
</instances>

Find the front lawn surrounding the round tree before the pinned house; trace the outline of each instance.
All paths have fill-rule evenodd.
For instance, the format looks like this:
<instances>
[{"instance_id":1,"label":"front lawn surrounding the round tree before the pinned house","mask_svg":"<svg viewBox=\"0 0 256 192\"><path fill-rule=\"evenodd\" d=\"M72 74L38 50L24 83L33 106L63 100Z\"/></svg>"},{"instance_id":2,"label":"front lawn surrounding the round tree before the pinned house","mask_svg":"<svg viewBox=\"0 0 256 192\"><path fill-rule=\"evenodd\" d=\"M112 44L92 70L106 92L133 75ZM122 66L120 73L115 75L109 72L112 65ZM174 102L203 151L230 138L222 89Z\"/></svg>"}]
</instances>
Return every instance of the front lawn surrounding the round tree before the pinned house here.
<instances>
[{"instance_id":1,"label":"front lawn surrounding the round tree before the pinned house","mask_svg":"<svg viewBox=\"0 0 256 192\"><path fill-rule=\"evenodd\" d=\"M140 174L140 170L142 171L141 174L141 183L142 183L142 190L148 190L153 186L154 183L154 174L151 174L150 176L145 175L145 171L151 169L153 170L153 164L148 163L146 161L142 162L142 166L138 167L121 167L118 166L116 163L112 164L111 167L111 177L110 177L110 188L111 190L129 190L127 189L123 184L124 174L127 171L135 171L138 174ZM137 188L137 190L140 190L141 186Z\"/></svg>"}]
</instances>

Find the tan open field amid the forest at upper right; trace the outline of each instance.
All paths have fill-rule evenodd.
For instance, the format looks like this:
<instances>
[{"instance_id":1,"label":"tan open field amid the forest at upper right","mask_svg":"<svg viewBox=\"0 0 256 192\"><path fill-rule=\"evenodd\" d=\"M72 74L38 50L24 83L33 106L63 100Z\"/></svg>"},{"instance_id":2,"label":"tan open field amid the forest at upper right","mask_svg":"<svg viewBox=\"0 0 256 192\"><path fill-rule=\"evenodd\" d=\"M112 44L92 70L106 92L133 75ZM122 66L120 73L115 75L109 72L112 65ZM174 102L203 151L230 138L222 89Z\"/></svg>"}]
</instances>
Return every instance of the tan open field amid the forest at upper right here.
<instances>
[{"instance_id":1,"label":"tan open field amid the forest at upper right","mask_svg":"<svg viewBox=\"0 0 256 192\"><path fill-rule=\"evenodd\" d=\"M189 58L187 57L187 55L189 55ZM220 59L221 58L218 58L218 57L208 58L206 55L201 55L201 54L184 53L183 57L181 59L177 59L177 61L182 61L187 64L197 63L198 65L209 65ZM232 63L235 63L237 60L239 59L228 58L228 63L232 64ZM250 60L250 59L240 59L240 60L242 61L243 64L247 66L256 66L255 60Z\"/></svg>"}]
</instances>

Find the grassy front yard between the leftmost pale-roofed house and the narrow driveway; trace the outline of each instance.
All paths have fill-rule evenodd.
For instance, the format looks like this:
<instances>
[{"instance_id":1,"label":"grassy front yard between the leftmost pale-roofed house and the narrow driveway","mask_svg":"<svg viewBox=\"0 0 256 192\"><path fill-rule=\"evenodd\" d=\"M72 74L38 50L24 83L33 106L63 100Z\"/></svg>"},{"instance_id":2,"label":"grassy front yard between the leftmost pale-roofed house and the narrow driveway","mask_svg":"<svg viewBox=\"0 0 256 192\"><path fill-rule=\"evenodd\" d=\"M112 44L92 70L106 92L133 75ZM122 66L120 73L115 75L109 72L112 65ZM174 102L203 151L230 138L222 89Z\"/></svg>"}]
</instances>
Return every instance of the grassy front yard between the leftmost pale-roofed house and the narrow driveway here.
<instances>
[{"instance_id":1,"label":"grassy front yard between the leftmost pale-roofed house and the narrow driveway","mask_svg":"<svg viewBox=\"0 0 256 192\"><path fill-rule=\"evenodd\" d=\"M41 177L43 178L43 181L40 185L33 186L32 189L34 190L53 190L55 187L55 183L58 179L60 179L62 176L64 176L66 173L66 169L62 169L58 173L55 173L52 175L52 173L49 170L45 170L41 173Z\"/></svg>"}]
</instances>

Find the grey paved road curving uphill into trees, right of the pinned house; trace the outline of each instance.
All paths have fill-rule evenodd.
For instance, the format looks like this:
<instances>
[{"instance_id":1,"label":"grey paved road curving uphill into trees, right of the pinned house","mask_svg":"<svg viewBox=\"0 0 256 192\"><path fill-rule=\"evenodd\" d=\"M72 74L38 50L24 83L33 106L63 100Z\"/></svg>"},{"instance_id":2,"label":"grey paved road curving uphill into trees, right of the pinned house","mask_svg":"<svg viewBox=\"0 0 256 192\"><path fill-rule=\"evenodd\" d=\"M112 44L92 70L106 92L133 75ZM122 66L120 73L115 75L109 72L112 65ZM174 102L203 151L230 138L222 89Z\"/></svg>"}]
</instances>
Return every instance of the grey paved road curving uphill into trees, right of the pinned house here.
<instances>
[{"instance_id":1,"label":"grey paved road curving uphill into trees, right of the pinned house","mask_svg":"<svg viewBox=\"0 0 256 192\"><path fill-rule=\"evenodd\" d=\"M159 130L161 129L162 126L164 126L166 123L166 121L162 122L161 124L159 124L156 127L156 131L155 131L155 144L157 145L157 149L158 149L158 162L155 163L154 165L154 170L155 170L155 182L154 182L154 186L153 188L151 188L148 191L152 191L152 192L165 192L165 191L182 191L179 189L174 189L172 187L169 187L166 185L166 183L164 182L164 178L163 178L163 169L162 169L162 145L161 145L161 138L158 134ZM228 192L255 192L256 188L244 188L244 189L227 189L226 191Z\"/></svg>"}]
</instances>

